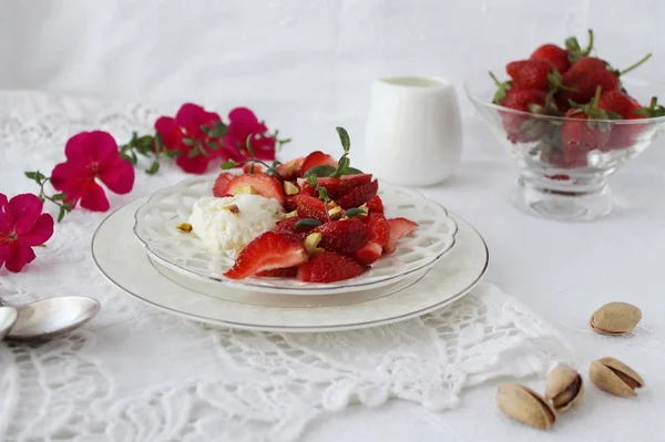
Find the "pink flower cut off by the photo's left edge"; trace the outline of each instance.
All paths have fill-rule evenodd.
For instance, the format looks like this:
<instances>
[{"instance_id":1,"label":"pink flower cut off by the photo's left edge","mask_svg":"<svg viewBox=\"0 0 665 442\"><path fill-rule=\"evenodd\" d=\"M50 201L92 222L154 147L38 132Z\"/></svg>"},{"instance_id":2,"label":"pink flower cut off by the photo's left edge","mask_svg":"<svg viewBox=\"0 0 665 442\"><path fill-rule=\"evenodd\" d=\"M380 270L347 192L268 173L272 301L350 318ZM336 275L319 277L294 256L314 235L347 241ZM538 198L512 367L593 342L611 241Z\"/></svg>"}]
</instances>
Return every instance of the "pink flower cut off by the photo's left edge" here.
<instances>
[{"instance_id":1,"label":"pink flower cut off by the photo's left edge","mask_svg":"<svg viewBox=\"0 0 665 442\"><path fill-rule=\"evenodd\" d=\"M0 267L19 273L34 260L32 247L53 235L53 217L42 214L43 203L32 194L7 201L0 194Z\"/></svg>"}]
</instances>

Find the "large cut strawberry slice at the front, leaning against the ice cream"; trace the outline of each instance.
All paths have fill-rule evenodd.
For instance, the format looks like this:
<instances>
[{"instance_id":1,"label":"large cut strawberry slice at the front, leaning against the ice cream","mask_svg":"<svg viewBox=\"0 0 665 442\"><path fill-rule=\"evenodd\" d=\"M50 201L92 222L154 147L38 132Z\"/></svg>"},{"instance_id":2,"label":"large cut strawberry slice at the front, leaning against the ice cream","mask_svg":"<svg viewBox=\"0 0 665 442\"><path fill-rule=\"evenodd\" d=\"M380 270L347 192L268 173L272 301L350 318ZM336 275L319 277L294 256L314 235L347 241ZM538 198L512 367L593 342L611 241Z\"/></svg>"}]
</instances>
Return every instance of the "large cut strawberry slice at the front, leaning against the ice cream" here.
<instances>
[{"instance_id":1,"label":"large cut strawberry slice at the front, leaning against the ice cream","mask_svg":"<svg viewBox=\"0 0 665 442\"><path fill-rule=\"evenodd\" d=\"M244 279L259 271L299 266L309 259L307 250L297 240L275 232L266 232L247 244L224 274L231 279Z\"/></svg>"}]
</instances>

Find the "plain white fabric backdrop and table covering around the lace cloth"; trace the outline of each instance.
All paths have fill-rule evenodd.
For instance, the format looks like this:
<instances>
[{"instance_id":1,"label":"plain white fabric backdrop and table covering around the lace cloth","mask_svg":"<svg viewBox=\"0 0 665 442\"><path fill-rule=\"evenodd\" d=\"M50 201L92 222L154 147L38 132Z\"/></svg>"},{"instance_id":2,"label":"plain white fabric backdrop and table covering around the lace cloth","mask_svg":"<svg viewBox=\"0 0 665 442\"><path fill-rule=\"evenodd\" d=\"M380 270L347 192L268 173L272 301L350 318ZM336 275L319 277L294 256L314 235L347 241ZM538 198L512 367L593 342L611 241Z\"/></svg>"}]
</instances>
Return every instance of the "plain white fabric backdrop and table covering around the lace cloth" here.
<instances>
[{"instance_id":1,"label":"plain white fabric backdrop and table covering around the lace cloth","mask_svg":"<svg viewBox=\"0 0 665 442\"><path fill-rule=\"evenodd\" d=\"M438 74L459 88L468 73L526 56L543 41L571 33L583 39L587 27L614 64L654 52L636 75L663 81L665 71L659 33L665 3L659 0L0 4L0 88L131 102L192 100L222 112L246 104L294 136L294 155L335 151L335 124L361 140L375 78ZM403 403L351 408L318 422L306 440L658 440L665 433L665 141L613 179L617 207L610 217L592 224L535 219L510 205L514 166L468 102L460 101L463 164L453 181L426 193L485 236L490 281L559 325L583 358L615 356L638 370L647 388L634 400L589 388L585 405L548 434L508 422L495 411L494 390L479 388L460 409L441 415ZM2 182L23 179L20 171L1 176ZM643 309L636 336L607 339L586 331L591 311L610 300Z\"/></svg>"}]
</instances>

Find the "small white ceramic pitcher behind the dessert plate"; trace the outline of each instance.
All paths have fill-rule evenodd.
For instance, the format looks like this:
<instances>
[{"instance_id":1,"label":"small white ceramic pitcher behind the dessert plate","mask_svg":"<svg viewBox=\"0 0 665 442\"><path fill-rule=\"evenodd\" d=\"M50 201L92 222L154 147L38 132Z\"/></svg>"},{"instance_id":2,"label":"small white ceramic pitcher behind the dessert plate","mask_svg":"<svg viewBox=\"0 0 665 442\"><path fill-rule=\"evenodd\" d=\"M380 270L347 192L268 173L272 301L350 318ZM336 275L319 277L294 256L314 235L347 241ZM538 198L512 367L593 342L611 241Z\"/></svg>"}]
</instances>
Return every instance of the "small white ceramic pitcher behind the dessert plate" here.
<instances>
[{"instance_id":1,"label":"small white ceramic pitcher behind the dessert plate","mask_svg":"<svg viewBox=\"0 0 665 442\"><path fill-rule=\"evenodd\" d=\"M452 85L431 76L376 81L366 150L375 175L388 182L418 187L448 178L462 151L460 110Z\"/></svg>"}]
</instances>

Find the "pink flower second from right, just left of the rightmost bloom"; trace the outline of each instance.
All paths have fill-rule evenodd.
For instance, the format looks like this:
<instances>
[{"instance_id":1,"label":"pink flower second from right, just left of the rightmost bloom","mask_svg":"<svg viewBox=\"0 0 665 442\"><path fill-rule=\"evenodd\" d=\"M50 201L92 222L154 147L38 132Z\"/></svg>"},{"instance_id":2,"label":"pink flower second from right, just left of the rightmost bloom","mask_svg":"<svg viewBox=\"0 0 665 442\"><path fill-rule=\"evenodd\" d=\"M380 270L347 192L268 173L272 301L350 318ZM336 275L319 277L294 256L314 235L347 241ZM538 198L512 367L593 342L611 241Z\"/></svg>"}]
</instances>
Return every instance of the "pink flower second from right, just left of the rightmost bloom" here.
<instances>
[{"instance_id":1,"label":"pink flower second from right, just left of the rightmost bloom","mask_svg":"<svg viewBox=\"0 0 665 442\"><path fill-rule=\"evenodd\" d=\"M187 173L203 174L207 171L209 162L219 155L216 148L218 145L211 144L216 142L216 138L209 136L203 127L213 129L215 123L221 121L217 113L207 112L197 104L185 103L177 111L175 119L157 119L155 130L162 137L164 148L181 152L175 164Z\"/></svg>"}]
</instances>

